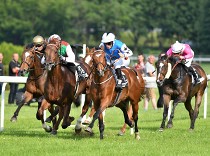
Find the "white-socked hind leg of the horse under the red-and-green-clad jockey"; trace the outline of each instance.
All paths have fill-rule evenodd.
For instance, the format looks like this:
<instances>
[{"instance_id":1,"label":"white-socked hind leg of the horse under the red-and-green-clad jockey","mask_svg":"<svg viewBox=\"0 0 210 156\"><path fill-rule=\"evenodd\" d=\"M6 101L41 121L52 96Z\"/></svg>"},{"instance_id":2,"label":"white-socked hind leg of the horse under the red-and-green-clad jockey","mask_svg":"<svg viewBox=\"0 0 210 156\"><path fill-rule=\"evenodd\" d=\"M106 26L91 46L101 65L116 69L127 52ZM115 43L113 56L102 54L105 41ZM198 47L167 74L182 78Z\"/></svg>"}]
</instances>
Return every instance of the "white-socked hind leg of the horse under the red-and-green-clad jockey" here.
<instances>
[{"instance_id":1,"label":"white-socked hind leg of the horse under the red-and-green-clad jockey","mask_svg":"<svg viewBox=\"0 0 210 156\"><path fill-rule=\"evenodd\" d=\"M87 113L90 103L92 102L90 95L86 94L85 96L85 103L82 107L82 113L80 114L79 119L77 120L76 126L75 126L75 132L80 133L82 130L82 119L83 116Z\"/></svg>"}]
</instances>

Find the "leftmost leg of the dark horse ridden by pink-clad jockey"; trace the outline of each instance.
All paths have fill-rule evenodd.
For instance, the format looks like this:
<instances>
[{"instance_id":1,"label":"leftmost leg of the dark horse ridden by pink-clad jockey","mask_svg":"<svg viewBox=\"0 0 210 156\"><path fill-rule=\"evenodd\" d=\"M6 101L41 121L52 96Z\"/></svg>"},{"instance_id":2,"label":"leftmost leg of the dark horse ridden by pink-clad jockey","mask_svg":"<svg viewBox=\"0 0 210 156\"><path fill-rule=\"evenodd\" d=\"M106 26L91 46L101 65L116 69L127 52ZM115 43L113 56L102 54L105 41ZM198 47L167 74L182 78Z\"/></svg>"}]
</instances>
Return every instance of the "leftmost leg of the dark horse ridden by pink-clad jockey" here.
<instances>
[{"instance_id":1,"label":"leftmost leg of the dark horse ridden by pink-clad jockey","mask_svg":"<svg viewBox=\"0 0 210 156\"><path fill-rule=\"evenodd\" d=\"M163 129L165 128L165 122L166 122L166 117L168 116L168 108L169 108L169 103L170 103L170 96L168 95L163 95L163 99L164 99L164 103L163 103L163 119L162 119L162 123L160 125L160 129L159 131L163 131Z\"/></svg>"}]
</instances>

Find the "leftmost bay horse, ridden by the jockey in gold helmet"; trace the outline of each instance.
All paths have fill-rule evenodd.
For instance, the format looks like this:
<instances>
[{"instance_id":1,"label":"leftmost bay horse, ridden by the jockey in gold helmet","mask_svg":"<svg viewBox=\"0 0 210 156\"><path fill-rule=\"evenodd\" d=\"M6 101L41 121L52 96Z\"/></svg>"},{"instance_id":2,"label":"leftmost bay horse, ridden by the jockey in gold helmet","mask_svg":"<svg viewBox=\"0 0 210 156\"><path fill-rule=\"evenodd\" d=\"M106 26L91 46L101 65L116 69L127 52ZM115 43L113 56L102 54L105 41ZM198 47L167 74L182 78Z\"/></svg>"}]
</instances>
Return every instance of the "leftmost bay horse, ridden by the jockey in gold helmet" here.
<instances>
[{"instance_id":1,"label":"leftmost bay horse, ridden by the jockey in gold helmet","mask_svg":"<svg viewBox=\"0 0 210 156\"><path fill-rule=\"evenodd\" d=\"M41 57L43 56L42 53L36 51L34 48L31 49L24 49L22 53L22 63L20 66L20 73L21 75L25 75L29 73L27 82L26 82L26 91L21 97L20 101L18 102L18 108L14 112L14 115L11 118L11 121L16 121L17 116L19 114L20 109L26 103L28 103L33 98L40 98L44 93L44 82L46 73L44 72L44 67L41 64ZM40 100L39 100L40 101ZM39 102L40 103L40 102ZM53 107L48 107L48 103L45 104L45 109L52 113L54 111ZM55 123L55 118L53 118L52 122ZM45 124L42 121L42 127L45 131L50 132L52 128Z\"/></svg>"}]
</instances>

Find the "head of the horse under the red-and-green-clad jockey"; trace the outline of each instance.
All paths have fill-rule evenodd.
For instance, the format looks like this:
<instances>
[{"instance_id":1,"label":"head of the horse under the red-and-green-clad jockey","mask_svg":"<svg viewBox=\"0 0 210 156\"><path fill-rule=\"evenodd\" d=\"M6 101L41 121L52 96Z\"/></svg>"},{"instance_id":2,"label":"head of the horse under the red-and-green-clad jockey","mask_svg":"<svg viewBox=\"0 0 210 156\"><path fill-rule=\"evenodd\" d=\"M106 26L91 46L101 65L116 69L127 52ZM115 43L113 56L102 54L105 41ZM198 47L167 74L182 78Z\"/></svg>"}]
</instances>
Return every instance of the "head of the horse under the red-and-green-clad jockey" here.
<instances>
[{"instance_id":1,"label":"head of the horse under the red-and-green-clad jockey","mask_svg":"<svg viewBox=\"0 0 210 156\"><path fill-rule=\"evenodd\" d=\"M60 63L61 59L58 53L59 46L53 42L50 42L45 49L45 68L51 70L57 64Z\"/></svg>"}]
</instances>

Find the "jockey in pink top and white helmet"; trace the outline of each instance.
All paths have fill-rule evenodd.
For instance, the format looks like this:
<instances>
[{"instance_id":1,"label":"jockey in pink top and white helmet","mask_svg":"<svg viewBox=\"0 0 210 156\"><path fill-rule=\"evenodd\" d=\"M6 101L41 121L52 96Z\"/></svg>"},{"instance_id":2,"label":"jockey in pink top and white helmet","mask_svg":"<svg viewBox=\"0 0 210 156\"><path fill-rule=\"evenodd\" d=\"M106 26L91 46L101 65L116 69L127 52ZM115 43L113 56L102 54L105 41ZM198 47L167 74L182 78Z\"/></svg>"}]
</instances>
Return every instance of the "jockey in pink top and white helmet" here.
<instances>
[{"instance_id":1,"label":"jockey in pink top and white helmet","mask_svg":"<svg viewBox=\"0 0 210 156\"><path fill-rule=\"evenodd\" d=\"M185 66L188 67L189 71L192 73L195 81L195 85L201 83L204 78L198 78L197 72L193 69L191 66L192 60L194 58L194 51L191 49L189 44L183 44L176 41L173 45L171 45L171 48L166 52L168 56L171 56L172 54L180 54L180 59L185 59L186 63Z\"/></svg>"}]
</instances>

